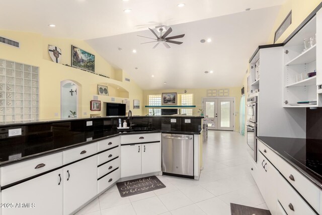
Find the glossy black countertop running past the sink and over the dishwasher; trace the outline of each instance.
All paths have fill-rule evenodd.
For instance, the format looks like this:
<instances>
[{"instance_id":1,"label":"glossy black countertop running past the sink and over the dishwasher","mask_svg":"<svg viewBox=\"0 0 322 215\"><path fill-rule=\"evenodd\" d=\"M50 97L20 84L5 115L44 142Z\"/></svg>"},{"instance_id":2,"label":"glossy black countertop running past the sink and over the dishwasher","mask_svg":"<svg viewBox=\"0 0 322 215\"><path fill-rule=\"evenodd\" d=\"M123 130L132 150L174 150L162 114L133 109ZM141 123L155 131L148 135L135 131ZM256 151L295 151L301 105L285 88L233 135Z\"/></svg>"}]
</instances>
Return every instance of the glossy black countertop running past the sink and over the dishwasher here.
<instances>
[{"instance_id":1,"label":"glossy black countertop running past the sink and over the dishwasher","mask_svg":"<svg viewBox=\"0 0 322 215\"><path fill-rule=\"evenodd\" d=\"M169 130L118 130L116 128L100 131L86 131L86 132L73 132L72 135L59 136L56 138L44 138L42 141L22 141L23 143L17 144L14 140L8 139L5 143L0 144L0 167L20 162L30 158L43 156L47 154L57 153L66 149L90 144L92 142L117 136L134 133L184 133L184 134L200 134L198 132L190 131L169 131ZM18 155L18 159L10 159L9 157Z\"/></svg>"}]
</instances>

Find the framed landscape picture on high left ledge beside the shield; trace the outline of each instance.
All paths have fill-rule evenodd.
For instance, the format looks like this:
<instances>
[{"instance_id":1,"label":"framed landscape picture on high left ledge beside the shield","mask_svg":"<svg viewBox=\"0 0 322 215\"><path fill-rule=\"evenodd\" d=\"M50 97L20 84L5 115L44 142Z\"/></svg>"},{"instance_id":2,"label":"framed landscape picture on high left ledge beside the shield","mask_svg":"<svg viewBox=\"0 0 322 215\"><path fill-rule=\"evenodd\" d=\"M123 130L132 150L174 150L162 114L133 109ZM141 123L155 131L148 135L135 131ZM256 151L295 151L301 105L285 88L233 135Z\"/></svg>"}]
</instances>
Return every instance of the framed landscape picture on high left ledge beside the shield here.
<instances>
[{"instance_id":1,"label":"framed landscape picture on high left ledge beside the shield","mask_svg":"<svg viewBox=\"0 0 322 215\"><path fill-rule=\"evenodd\" d=\"M71 66L95 72L95 55L71 45Z\"/></svg>"}]
</instances>

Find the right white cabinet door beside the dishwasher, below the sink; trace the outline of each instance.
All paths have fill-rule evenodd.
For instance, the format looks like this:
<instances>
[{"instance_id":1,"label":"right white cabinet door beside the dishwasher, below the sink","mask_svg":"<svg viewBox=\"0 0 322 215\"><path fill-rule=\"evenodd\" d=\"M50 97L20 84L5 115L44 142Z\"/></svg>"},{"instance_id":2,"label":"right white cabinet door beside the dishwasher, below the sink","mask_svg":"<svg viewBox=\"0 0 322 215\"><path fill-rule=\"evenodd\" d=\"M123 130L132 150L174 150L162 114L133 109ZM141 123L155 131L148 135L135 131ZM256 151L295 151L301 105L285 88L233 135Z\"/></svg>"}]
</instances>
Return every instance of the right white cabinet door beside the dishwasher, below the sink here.
<instances>
[{"instance_id":1,"label":"right white cabinet door beside the dishwasher, below the sink","mask_svg":"<svg viewBox=\"0 0 322 215\"><path fill-rule=\"evenodd\" d=\"M161 171L160 142L142 144L142 174Z\"/></svg>"}]
</instances>

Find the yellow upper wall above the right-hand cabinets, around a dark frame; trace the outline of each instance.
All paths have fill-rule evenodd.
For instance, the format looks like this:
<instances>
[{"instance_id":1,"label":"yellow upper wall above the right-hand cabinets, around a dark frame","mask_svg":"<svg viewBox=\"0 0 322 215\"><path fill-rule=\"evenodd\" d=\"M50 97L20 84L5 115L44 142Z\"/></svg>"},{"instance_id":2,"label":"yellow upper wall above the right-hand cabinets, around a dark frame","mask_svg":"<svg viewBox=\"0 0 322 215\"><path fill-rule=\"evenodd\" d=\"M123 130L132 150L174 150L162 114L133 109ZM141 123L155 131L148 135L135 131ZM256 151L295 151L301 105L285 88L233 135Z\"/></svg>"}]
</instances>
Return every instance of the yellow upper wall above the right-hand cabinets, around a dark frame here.
<instances>
[{"instance_id":1,"label":"yellow upper wall above the right-hand cabinets, around a dark frame","mask_svg":"<svg viewBox=\"0 0 322 215\"><path fill-rule=\"evenodd\" d=\"M286 3L281 6L270 34L268 44L274 43L275 31L291 10L292 24L286 29L276 43L282 43L321 2L321 0L287 0Z\"/></svg>"}]
</instances>

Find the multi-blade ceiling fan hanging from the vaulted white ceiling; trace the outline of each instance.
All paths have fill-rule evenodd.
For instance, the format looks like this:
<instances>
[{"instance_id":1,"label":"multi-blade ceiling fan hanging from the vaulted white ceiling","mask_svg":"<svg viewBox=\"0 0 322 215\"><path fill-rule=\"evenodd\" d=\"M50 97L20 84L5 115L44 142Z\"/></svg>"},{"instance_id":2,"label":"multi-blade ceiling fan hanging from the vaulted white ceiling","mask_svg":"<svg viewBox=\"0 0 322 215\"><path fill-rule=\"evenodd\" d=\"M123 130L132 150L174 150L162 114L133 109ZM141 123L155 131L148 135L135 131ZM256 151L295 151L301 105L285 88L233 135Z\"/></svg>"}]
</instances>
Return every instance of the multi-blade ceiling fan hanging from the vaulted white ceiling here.
<instances>
[{"instance_id":1,"label":"multi-blade ceiling fan hanging from the vaulted white ceiling","mask_svg":"<svg viewBox=\"0 0 322 215\"><path fill-rule=\"evenodd\" d=\"M171 48L170 45L168 43L174 43L174 44L182 44L183 42L179 42L179 41L174 41L173 39L178 39L178 38L182 38L184 37L185 35L184 34L180 34L180 35L177 35L177 36L172 36L172 37L167 37L171 32L172 32L172 28L170 27L163 35L162 35L162 32L164 31L165 27L164 26L159 26L160 28L158 28L158 31L160 32L160 36L157 36L157 34L150 28L148 28L153 34L154 36L156 37L156 39L154 38L151 38L151 37L145 37L145 38L149 38L149 39L152 39L152 40L155 40L155 41L151 41L151 42L145 42L145 43L153 43L153 42L156 42L156 44L153 46L153 48L155 48L159 43L163 43L167 48ZM144 36L140 36L140 35L137 35L139 37L144 37ZM145 44L145 43L141 43L141 44Z\"/></svg>"}]
</instances>

